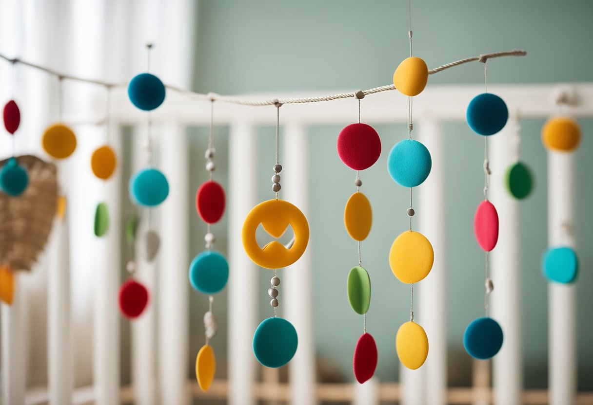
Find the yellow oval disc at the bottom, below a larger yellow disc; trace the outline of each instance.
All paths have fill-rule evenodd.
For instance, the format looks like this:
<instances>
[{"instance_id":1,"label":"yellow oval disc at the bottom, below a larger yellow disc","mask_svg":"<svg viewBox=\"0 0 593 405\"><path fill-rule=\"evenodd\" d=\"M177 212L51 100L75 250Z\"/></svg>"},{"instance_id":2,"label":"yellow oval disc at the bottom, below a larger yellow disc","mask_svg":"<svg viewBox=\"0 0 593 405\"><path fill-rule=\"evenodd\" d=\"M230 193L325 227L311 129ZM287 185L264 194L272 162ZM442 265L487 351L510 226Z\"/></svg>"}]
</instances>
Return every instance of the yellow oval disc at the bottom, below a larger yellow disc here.
<instances>
[{"instance_id":1,"label":"yellow oval disc at the bottom, below a larger yellow disc","mask_svg":"<svg viewBox=\"0 0 593 405\"><path fill-rule=\"evenodd\" d=\"M396 335L396 351L401 364L409 369L420 368L428 356L428 337L422 326L406 322Z\"/></svg>"}]
</instances>

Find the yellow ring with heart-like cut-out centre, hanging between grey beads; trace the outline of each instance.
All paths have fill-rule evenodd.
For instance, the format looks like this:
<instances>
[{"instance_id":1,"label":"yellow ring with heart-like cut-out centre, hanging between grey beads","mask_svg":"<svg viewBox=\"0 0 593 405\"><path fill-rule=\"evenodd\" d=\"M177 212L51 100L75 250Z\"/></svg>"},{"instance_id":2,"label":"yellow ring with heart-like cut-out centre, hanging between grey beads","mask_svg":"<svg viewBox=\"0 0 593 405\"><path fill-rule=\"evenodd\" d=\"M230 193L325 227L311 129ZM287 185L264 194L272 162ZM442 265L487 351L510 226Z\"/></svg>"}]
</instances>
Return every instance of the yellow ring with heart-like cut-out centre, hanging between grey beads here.
<instances>
[{"instance_id":1,"label":"yellow ring with heart-like cut-out centre, hanging between grey beads","mask_svg":"<svg viewBox=\"0 0 593 405\"><path fill-rule=\"evenodd\" d=\"M262 248L257 244L256 230L259 224L271 236L278 239L288 226L294 232L294 243L286 249L273 240ZM247 214L241 233L243 248L247 256L266 269L279 269L296 262L307 249L309 243L309 224L301 210L284 200L267 200L257 204Z\"/></svg>"}]
</instances>

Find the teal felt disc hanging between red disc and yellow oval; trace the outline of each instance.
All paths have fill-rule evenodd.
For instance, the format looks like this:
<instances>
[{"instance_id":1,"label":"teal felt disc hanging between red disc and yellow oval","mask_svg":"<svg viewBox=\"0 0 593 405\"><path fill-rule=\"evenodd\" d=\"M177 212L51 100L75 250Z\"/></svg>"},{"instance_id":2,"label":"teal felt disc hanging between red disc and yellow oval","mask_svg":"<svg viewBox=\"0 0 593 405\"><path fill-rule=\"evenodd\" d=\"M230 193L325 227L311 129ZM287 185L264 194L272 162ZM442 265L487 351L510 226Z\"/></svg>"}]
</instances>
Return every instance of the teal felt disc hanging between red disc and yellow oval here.
<instances>
[{"instance_id":1,"label":"teal felt disc hanging between red disc and yellow oval","mask_svg":"<svg viewBox=\"0 0 593 405\"><path fill-rule=\"evenodd\" d=\"M200 253L189 265L189 282L200 293L218 293L227 285L227 280L227 259L215 250Z\"/></svg>"}]
</instances>

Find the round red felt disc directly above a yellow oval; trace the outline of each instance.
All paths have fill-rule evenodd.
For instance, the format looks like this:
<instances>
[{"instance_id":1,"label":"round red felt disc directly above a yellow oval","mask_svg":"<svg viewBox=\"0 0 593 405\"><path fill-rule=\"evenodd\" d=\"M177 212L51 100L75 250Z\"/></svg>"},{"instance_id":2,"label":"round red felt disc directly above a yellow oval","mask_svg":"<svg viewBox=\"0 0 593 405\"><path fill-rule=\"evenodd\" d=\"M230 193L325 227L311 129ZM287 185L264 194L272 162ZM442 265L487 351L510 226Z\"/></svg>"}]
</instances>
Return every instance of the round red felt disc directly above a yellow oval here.
<instances>
[{"instance_id":1,"label":"round red felt disc directly above a yellow oval","mask_svg":"<svg viewBox=\"0 0 593 405\"><path fill-rule=\"evenodd\" d=\"M367 124L350 124L337 136L337 154L354 170L370 168L381 155L381 139Z\"/></svg>"}]
</instances>

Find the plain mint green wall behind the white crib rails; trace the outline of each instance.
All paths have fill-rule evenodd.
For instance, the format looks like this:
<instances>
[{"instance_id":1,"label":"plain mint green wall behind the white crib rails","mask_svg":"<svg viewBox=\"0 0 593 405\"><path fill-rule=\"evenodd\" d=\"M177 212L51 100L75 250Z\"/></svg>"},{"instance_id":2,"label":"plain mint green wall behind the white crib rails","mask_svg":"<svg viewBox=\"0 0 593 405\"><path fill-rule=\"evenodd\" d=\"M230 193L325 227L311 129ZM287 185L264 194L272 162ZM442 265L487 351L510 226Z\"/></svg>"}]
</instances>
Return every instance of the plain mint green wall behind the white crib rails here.
<instances>
[{"instance_id":1,"label":"plain mint green wall behind the white crib rails","mask_svg":"<svg viewBox=\"0 0 593 405\"><path fill-rule=\"evenodd\" d=\"M414 50L429 67L479 53L525 49L527 57L489 62L489 83L593 81L593 2L584 1L470 1L413 0ZM247 92L354 90L390 82L397 63L406 57L407 1L352 0L203 0L197 18L195 90L240 94ZM473 63L433 75L432 83L480 83L483 68ZM224 107L219 107L224 108ZM319 108L323 108L320 105ZM273 111L270 111L273 114ZM593 120L581 120L584 139L576 154L576 236L581 260L578 279L579 388L593 390ZM346 122L344 124L347 124ZM536 176L534 194L521 203L522 308L525 385L547 385L547 284L541 277L540 256L547 245L546 152L539 131L543 120L524 120L522 153ZM385 171L391 145L403 137L401 126L375 126L383 153L375 166L362 173L363 190L374 209L374 227L362 245L362 260L373 283L371 332L380 351L378 375L398 378L394 338L408 317L409 287L396 280L387 265L387 252L397 234L406 229L407 190ZM362 333L362 317L346 298L346 275L356 263L356 244L346 234L342 210L353 191L353 172L340 162L335 141L340 126L311 127L311 253L317 352L337 365L342 378L353 380L352 351ZM196 132L197 131L197 132ZM190 187L203 181L206 131L193 131ZM260 198L269 198L273 128L260 128ZM228 158L228 130L217 128L218 167ZM481 198L482 142L464 123L445 123L447 196L447 336L449 383L470 384L470 359L461 336L467 323L482 313L483 255L471 228L473 211ZM269 159L267 159L269 157ZM285 168L286 175L297 168ZM497 168L495 168L497 169ZM223 184L228 173L217 172ZM232 190L229 197L233 198ZM203 248L205 227L193 212L192 252ZM216 234L221 235L224 223ZM204 228L204 229L202 229ZM218 248L226 250L219 236ZM240 271L240 269L231 269ZM270 313L266 294L269 272L261 276L261 317ZM232 273L231 273L232 277ZM496 281L495 281L496 284ZM495 290L498 293L498 290ZM215 311L224 325L226 293ZM500 291L500 294L503 294ZM206 299L192 294L192 350L202 341L202 313ZM282 291L280 291L282 302ZM217 357L226 355L226 328L213 340ZM219 369L223 370L224 365Z\"/></svg>"}]
</instances>

